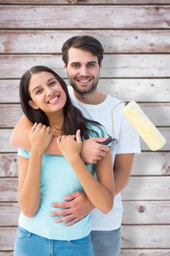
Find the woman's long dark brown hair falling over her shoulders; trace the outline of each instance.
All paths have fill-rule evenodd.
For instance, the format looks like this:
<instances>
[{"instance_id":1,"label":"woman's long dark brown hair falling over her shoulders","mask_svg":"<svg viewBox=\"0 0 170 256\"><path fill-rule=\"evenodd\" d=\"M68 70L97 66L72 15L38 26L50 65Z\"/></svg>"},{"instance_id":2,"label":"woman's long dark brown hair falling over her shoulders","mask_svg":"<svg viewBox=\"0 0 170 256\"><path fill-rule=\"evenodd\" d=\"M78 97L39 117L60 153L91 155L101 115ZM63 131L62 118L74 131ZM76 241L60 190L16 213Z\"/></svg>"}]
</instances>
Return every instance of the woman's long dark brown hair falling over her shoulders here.
<instances>
[{"instance_id":1,"label":"woman's long dark brown hair falling over her shoulders","mask_svg":"<svg viewBox=\"0 0 170 256\"><path fill-rule=\"evenodd\" d=\"M31 69L29 69L26 73L23 74L20 80L20 103L23 109L23 113L26 115L29 121L31 121L33 124L37 122L49 126L49 121L45 112L40 109L36 110L34 108L31 108L31 106L28 104L28 101L31 100L31 96L28 91L31 76L39 72L50 72L51 74L53 74L54 77L61 84L63 91L65 91L66 104L63 107L64 121L62 127L62 135L75 135L77 129L80 129L81 136L84 139L89 138L90 132L92 132L94 136L98 136L98 132L94 131L93 129L90 129L89 124L96 124L98 128L101 129L100 124L96 121L91 121L85 118L82 115L82 112L78 108L74 107L74 105L72 105L72 101L69 97L69 92L67 90L67 86L64 80L52 69L45 66L31 67Z\"/></svg>"}]
</instances>

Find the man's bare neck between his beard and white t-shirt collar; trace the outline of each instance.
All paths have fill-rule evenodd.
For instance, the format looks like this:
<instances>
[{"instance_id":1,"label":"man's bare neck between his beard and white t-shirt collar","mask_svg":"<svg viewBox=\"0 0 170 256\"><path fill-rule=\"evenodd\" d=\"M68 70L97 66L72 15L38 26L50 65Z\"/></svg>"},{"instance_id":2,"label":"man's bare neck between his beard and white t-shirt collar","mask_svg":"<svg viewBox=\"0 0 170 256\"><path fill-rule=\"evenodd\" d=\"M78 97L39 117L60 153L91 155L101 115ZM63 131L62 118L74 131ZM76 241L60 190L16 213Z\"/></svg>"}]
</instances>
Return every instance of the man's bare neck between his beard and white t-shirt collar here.
<instances>
[{"instance_id":1,"label":"man's bare neck between his beard and white t-shirt collar","mask_svg":"<svg viewBox=\"0 0 170 256\"><path fill-rule=\"evenodd\" d=\"M88 94L79 94L77 91L74 91L74 90L73 92L76 99L80 100L80 102L90 104L90 105L100 104L104 102L104 100L107 97L107 94L103 94L100 91L91 91Z\"/></svg>"}]
</instances>

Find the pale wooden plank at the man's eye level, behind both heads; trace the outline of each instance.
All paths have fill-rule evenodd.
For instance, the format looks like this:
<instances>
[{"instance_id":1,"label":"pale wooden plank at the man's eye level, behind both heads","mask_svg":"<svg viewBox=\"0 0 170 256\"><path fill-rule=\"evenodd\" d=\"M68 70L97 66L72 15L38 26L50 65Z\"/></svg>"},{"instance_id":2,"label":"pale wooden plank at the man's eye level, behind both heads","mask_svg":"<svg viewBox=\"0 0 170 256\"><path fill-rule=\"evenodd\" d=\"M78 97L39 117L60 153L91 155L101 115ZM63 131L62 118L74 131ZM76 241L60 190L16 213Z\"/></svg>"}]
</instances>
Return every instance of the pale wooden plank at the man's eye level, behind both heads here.
<instances>
[{"instance_id":1,"label":"pale wooden plank at the man's eye level, behind both heads","mask_svg":"<svg viewBox=\"0 0 170 256\"><path fill-rule=\"evenodd\" d=\"M101 78L169 78L170 54L110 54L104 56ZM36 65L66 78L61 55L1 55L0 78L21 78Z\"/></svg>"}]
</instances>

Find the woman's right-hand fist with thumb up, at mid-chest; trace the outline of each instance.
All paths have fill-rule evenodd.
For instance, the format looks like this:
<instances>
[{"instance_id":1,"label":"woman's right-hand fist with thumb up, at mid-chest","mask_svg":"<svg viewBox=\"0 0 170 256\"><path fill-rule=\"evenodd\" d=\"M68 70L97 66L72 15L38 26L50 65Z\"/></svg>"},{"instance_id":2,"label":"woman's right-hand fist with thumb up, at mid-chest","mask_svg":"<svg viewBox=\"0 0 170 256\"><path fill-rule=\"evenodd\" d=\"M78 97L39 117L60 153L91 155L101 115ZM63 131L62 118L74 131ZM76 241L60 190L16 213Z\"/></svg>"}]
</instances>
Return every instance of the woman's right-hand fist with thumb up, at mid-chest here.
<instances>
[{"instance_id":1,"label":"woman's right-hand fist with thumb up, at mid-chest","mask_svg":"<svg viewBox=\"0 0 170 256\"><path fill-rule=\"evenodd\" d=\"M76 140L75 140L76 139ZM82 139L80 130L77 130L76 135L63 135L57 138L58 148L66 159L72 160L80 155L82 148Z\"/></svg>"}]
</instances>

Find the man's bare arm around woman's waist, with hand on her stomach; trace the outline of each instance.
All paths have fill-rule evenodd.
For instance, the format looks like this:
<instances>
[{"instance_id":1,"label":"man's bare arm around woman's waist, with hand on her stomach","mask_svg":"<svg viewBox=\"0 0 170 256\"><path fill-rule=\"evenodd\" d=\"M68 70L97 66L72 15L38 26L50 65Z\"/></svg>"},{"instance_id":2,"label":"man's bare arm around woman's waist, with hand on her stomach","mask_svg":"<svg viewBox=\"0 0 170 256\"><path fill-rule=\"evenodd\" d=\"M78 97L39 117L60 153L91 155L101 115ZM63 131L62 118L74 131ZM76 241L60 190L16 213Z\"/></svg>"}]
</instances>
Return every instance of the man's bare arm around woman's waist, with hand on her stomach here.
<instances>
[{"instance_id":1,"label":"man's bare arm around woman's waist, with hand on her stomach","mask_svg":"<svg viewBox=\"0 0 170 256\"><path fill-rule=\"evenodd\" d=\"M117 154L115 157L115 164L113 167L114 181L115 181L115 195L120 193L128 184L131 175L131 167L134 160L134 154ZM64 215L62 218L56 218L56 222L66 222L66 226L73 225L80 219L84 218L94 206L88 200L85 193L74 192L63 198L64 203L53 203L54 208L64 208L61 211L53 211L52 216L58 217ZM68 202L67 202L68 200Z\"/></svg>"}]
</instances>

